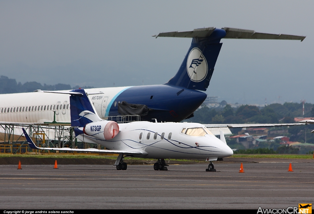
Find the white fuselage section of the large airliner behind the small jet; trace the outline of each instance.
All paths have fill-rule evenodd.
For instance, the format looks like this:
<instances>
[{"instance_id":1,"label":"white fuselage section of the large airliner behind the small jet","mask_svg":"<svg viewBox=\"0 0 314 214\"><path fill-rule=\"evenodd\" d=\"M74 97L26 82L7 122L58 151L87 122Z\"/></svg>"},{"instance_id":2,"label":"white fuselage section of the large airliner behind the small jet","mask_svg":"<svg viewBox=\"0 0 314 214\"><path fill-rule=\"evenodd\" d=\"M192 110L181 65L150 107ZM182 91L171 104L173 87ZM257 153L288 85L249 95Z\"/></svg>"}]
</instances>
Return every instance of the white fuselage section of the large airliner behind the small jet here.
<instances>
[{"instance_id":1,"label":"white fuselage section of the large airliner behind the small jet","mask_svg":"<svg viewBox=\"0 0 314 214\"><path fill-rule=\"evenodd\" d=\"M87 93L103 92L103 94L90 95L89 98L93 102L97 114L105 119L108 117L113 100L127 88L130 87L90 88L85 90ZM0 94L0 121L20 123L52 122L54 111L56 112L57 122L71 122L68 94L40 92Z\"/></svg>"}]
</instances>

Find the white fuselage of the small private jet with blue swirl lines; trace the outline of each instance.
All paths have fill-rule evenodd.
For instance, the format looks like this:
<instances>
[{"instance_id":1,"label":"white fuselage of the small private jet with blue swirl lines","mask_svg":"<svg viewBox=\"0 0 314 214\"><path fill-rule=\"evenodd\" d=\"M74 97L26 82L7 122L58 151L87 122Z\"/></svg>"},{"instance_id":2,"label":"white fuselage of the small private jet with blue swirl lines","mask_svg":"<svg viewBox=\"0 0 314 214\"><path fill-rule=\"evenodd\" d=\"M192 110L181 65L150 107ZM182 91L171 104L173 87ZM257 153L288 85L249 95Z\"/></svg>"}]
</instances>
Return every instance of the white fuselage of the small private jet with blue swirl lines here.
<instances>
[{"instance_id":1,"label":"white fuselage of the small private jet with blue swirl lines","mask_svg":"<svg viewBox=\"0 0 314 214\"><path fill-rule=\"evenodd\" d=\"M104 127L101 125L102 121L90 124ZM225 158L233 154L230 147L211 134L210 131L206 130L207 133L204 136L190 136L182 133L183 129L187 130L193 127L202 127L206 130L203 125L198 123L142 121L119 124L120 131L111 140L104 138L103 130L95 130L89 136L84 134L84 140L89 139L111 150L141 151L143 154L136 157L145 158L205 159ZM78 138L83 140L83 135L79 135Z\"/></svg>"}]
</instances>

